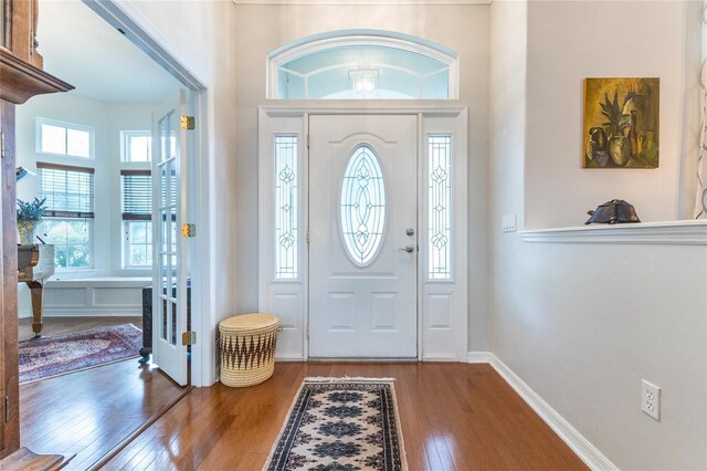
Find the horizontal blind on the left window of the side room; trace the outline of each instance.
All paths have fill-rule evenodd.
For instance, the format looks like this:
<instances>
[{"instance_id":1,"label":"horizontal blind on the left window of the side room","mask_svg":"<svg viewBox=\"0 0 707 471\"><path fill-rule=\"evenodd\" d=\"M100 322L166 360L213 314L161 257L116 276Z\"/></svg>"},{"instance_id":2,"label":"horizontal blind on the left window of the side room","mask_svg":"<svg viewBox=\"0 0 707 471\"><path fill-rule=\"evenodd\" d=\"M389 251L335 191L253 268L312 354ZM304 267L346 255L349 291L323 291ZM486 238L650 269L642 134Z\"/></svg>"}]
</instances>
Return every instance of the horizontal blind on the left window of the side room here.
<instances>
[{"instance_id":1,"label":"horizontal blind on the left window of the side room","mask_svg":"<svg viewBox=\"0 0 707 471\"><path fill-rule=\"evenodd\" d=\"M48 218L94 217L94 169L36 163L40 198L46 198Z\"/></svg>"}]
</instances>

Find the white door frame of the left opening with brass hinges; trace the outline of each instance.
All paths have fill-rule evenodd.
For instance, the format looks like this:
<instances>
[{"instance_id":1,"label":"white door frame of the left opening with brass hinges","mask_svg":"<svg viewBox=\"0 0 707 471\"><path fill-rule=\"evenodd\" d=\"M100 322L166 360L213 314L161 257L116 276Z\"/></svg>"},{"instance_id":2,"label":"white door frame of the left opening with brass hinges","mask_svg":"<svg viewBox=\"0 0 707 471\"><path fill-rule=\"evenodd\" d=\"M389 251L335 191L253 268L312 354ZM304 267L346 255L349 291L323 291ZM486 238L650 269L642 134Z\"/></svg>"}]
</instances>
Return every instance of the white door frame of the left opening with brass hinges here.
<instances>
[{"instance_id":1,"label":"white door frame of the left opening with brass hinges","mask_svg":"<svg viewBox=\"0 0 707 471\"><path fill-rule=\"evenodd\" d=\"M190 108L193 111L198 135L192 139L193 148L189 149L191 161L188 163L189 206L191 208L209 208L215 199L213 186L213 129L209 125L214 122L212 85L184 63L181 54L170 44L157 29L145 19L129 2L123 0L82 0L112 27L120 29L125 36L141 49L155 62L172 74L191 93ZM191 158L193 157L193 158ZM197 164L198 163L198 164ZM215 381L215 347L210 338L214 338L218 321L215 311L215 230L214 219L209 211L192 211L186 214L190 222L197 224L199 243L188 248L191 272L191 329L198 333L198 341L191 350L191 385L209 386ZM201 315L200 315L201 314Z\"/></svg>"}]
</instances>

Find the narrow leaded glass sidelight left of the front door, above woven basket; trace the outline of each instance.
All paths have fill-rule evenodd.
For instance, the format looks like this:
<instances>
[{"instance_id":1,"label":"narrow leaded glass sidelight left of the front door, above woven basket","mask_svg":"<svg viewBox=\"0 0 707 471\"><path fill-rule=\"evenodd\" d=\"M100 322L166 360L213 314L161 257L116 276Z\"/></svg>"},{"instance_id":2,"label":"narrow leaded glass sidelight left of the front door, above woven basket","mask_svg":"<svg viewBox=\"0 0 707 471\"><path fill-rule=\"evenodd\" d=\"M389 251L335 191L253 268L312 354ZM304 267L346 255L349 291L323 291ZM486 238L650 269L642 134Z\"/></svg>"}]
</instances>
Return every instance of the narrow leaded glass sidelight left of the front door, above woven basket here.
<instances>
[{"instance_id":1,"label":"narrow leaded glass sidelight left of the front door, above woven basket","mask_svg":"<svg viewBox=\"0 0 707 471\"><path fill-rule=\"evenodd\" d=\"M275 136L275 279L297 275L297 136Z\"/></svg>"}]
</instances>

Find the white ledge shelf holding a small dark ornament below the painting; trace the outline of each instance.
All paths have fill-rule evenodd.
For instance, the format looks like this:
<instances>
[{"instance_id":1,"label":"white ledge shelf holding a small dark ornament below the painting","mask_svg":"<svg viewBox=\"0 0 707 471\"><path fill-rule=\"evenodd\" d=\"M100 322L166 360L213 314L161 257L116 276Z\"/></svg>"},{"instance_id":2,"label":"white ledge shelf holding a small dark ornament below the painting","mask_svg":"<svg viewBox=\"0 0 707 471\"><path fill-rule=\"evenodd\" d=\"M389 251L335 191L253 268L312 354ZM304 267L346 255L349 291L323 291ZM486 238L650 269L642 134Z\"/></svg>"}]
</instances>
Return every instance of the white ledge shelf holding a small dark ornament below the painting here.
<instances>
[{"instance_id":1,"label":"white ledge shelf holding a small dark ornament below the painting","mask_svg":"<svg viewBox=\"0 0 707 471\"><path fill-rule=\"evenodd\" d=\"M591 224L519 234L525 242L707 245L707 220Z\"/></svg>"}]
</instances>

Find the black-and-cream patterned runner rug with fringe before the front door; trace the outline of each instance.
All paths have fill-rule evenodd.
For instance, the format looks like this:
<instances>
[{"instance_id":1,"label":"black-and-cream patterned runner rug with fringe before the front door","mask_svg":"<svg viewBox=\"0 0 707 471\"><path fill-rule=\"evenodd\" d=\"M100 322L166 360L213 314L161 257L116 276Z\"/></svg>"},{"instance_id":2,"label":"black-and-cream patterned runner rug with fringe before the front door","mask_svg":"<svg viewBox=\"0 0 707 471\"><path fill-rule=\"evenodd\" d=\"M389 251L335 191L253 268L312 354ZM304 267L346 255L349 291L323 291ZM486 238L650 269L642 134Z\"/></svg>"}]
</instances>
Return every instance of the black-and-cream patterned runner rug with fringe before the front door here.
<instances>
[{"instance_id":1,"label":"black-and-cream patterned runner rug with fringe before the front door","mask_svg":"<svg viewBox=\"0 0 707 471\"><path fill-rule=\"evenodd\" d=\"M305 378L263 470L408 470L390 378Z\"/></svg>"}]
</instances>

